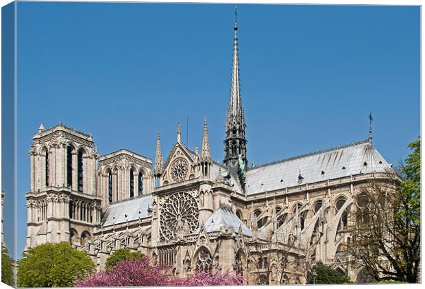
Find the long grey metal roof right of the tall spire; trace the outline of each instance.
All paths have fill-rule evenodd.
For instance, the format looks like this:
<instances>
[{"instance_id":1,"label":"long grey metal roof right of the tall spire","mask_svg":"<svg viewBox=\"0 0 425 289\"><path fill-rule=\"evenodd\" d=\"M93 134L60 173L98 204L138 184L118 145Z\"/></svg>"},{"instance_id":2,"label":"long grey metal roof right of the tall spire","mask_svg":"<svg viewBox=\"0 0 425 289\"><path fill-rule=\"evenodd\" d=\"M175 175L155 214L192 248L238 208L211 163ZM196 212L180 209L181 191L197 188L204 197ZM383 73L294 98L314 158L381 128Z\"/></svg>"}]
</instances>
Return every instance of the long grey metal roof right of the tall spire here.
<instances>
[{"instance_id":1,"label":"long grey metal roof right of the tall spire","mask_svg":"<svg viewBox=\"0 0 425 289\"><path fill-rule=\"evenodd\" d=\"M369 172L388 172L390 165L367 140L299 157L259 165L247 171L247 194L284 189ZM301 182L299 179L301 176Z\"/></svg>"}]
</instances>

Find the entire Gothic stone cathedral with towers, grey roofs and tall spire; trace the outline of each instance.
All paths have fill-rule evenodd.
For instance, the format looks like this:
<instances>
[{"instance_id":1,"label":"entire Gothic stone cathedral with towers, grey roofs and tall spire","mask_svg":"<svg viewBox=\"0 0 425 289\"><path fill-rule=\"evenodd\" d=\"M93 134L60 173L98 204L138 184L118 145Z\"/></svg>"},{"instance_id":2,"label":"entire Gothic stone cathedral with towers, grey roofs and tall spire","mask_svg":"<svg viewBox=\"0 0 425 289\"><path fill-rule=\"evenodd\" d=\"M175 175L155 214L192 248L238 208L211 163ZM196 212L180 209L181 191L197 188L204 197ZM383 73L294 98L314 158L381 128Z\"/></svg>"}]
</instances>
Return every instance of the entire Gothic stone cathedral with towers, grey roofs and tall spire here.
<instances>
[{"instance_id":1,"label":"entire Gothic stone cathedral with towers, grey roofs and tall spire","mask_svg":"<svg viewBox=\"0 0 425 289\"><path fill-rule=\"evenodd\" d=\"M369 132L365 141L248 167L237 31L235 23L223 163L210 156L206 119L200 150L182 143L178 126L166 159L158 133L154 161L125 149L99 156L91 135L41 125L29 150L26 248L71 242L99 269L130 248L180 277L221 269L247 284L304 284L318 261L361 278L345 253L348 216L367 209L362 192L386 183L391 165Z\"/></svg>"}]
</instances>

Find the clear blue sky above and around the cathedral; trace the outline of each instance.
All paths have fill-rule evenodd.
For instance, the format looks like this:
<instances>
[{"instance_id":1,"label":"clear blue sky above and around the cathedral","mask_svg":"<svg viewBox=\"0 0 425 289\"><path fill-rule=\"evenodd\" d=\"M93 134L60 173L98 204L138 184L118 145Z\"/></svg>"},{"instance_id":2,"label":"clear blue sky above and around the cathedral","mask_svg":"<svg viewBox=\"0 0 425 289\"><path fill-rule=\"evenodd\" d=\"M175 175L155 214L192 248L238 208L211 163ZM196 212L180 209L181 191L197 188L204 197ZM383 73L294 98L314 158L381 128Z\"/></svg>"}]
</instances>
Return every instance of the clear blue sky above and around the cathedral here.
<instances>
[{"instance_id":1,"label":"clear blue sky above and around the cathedral","mask_svg":"<svg viewBox=\"0 0 425 289\"><path fill-rule=\"evenodd\" d=\"M389 163L420 134L420 8L239 5L247 156L256 164L366 139ZM234 5L25 3L17 14L18 233L26 235L32 136L42 122L91 132L99 154L223 159Z\"/></svg>"}]
</instances>

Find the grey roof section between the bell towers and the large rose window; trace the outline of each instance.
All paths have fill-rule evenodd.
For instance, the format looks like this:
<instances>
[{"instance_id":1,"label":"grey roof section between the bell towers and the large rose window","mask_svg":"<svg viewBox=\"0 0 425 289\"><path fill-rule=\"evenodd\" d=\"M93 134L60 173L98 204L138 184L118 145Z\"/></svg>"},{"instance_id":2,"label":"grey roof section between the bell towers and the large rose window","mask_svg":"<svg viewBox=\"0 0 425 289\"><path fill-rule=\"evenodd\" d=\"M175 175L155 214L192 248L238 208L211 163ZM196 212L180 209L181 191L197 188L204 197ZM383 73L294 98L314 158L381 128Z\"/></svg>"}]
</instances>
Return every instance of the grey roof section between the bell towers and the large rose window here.
<instances>
[{"instance_id":1,"label":"grey roof section between the bell towers and the large rose window","mask_svg":"<svg viewBox=\"0 0 425 289\"><path fill-rule=\"evenodd\" d=\"M151 216L148 208L152 207L152 195L140 196L125 200L123 202L111 203L106 209L102 217L102 224L110 226L112 224L121 224L123 222L131 222L138 218L146 218ZM140 213L139 213L140 212ZM127 215L127 217L125 216Z\"/></svg>"}]
</instances>

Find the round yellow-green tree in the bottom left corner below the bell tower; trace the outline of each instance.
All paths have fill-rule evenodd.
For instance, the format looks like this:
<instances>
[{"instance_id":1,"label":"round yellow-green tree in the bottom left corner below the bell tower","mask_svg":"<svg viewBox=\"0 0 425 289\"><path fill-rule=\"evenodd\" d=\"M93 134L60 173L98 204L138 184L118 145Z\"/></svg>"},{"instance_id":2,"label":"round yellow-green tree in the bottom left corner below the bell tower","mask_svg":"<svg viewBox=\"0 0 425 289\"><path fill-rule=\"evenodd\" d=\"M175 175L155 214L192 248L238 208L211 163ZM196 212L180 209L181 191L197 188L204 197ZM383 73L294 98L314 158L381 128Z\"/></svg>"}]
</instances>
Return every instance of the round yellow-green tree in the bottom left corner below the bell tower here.
<instances>
[{"instance_id":1,"label":"round yellow-green tree in the bottom left corner below the bell tower","mask_svg":"<svg viewBox=\"0 0 425 289\"><path fill-rule=\"evenodd\" d=\"M72 287L95 271L95 263L69 242L29 248L18 266L19 287Z\"/></svg>"}]
</instances>

